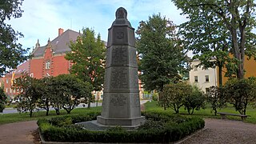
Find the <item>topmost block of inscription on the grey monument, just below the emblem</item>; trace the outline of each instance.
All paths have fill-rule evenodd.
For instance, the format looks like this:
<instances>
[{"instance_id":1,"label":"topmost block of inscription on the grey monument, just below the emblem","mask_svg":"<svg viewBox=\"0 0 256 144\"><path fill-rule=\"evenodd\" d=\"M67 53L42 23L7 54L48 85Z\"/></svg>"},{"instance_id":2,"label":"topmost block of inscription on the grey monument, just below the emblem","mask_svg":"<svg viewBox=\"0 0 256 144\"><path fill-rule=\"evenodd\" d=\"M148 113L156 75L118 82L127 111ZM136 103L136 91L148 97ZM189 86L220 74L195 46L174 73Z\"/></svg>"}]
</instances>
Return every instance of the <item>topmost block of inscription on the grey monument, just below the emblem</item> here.
<instances>
[{"instance_id":1,"label":"topmost block of inscription on the grey monument, just below the emblem","mask_svg":"<svg viewBox=\"0 0 256 144\"><path fill-rule=\"evenodd\" d=\"M112 64L127 64L128 57L127 57L127 48L126 47L114 47L112 55Z\"/></svg>"}]
</instances>

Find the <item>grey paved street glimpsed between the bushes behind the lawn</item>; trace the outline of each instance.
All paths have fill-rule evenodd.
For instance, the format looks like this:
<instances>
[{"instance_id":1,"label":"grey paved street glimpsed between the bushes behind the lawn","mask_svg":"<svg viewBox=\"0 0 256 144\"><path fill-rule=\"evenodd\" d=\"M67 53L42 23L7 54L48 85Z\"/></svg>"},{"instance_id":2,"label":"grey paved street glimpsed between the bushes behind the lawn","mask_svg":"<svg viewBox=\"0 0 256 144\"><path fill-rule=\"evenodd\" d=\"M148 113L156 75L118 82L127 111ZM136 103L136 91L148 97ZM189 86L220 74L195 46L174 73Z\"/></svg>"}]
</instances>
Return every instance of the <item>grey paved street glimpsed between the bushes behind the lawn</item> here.
<instances>
[{"instance_id":1,"label":"grey paved street glimpsed between the bushes behind the lawn","mask_svg":"<svg viewBox=\"0 0 256 144\"><path fill-rule=\"evenodd\" d=\"M141 104L146 103L148 100L142 100ZM98 102L98 104L96 102L94 103L90 103L91 107L96 107L96 106L102 106L102 102ZM76 106L76 108L81 108L81 107L87 107L87 104L79 104L78 106ZM41 109L43 110L43 109ZM54 110L54 108L50 108L50 110ZM2 114L13 114L13 113L18 113L18 111L12 107L10 108L6 108L5 110L3 110Z\"/></svg>"}]
</instances>

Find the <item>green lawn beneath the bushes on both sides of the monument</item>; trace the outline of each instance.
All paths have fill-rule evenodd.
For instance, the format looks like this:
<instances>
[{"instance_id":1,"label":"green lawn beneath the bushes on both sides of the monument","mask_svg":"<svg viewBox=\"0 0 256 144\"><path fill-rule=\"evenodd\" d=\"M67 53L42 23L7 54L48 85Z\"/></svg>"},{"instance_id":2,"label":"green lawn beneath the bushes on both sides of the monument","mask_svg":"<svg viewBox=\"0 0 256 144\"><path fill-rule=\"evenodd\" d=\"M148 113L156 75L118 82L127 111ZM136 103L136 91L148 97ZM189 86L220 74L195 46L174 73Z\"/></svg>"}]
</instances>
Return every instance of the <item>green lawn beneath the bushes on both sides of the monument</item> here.
<instances>
[{"instance_id":1,"label":"green lawn beneath the bushes on both sides of the monument","mask_svg":"<svg viewBox=\"0 0 256 144\"><path fill-rule=\"evenodd\" d=\"M157 105L157 102L146 102L145 104L145 109L146 110L162 110L163 108L161 106ZM71 111L70 115L81 115L81 114L86 114L92 111L100 111L102 110L102 106L98 106L98 107L91 107L90 109L88 108L76 108L74 110ZM237 111L234 110L233 106L227 106L226 108L223 108L221 110L218 110L219 112L227 112L227 113L232 113L232 114L239 114ZM256 124L256 109L253 109L251 106L248 106L247 110L246 110L246 114L250 115L250 117L248 117L246 119L246 122L250 122L250 123L254 123ZM168 108L166 110L167 113L170 114L174 114L174 110L171 110L170 108ZM186 110L184 110L184 107L180 108L180 114L182 115L188 115L188 113L186 112ZM61 110L60 111L60 115L66 115L66 111L65 110ZM202 118L220 118L219 115L215 116L214 112L211 110L210 105L206 106L205 110L195 110L194 114L192 114L192 116L199 116ZM2 124L6 124L6 123L12 123L12 122L22 122L22 121L31 121L31 120L38 120L39 118L53 118L53 117L58 117L58 115L55 114L54 110L51 110L49 113L49 116L46 116L46 111L38 111L38 112L34 112L32 118L30 118L30 114L29 113L22 113L22 114L0 114L0 125ZM240 120L240 117L227 117L229 119L232 120Z\"/></svg>"}]
</instances>

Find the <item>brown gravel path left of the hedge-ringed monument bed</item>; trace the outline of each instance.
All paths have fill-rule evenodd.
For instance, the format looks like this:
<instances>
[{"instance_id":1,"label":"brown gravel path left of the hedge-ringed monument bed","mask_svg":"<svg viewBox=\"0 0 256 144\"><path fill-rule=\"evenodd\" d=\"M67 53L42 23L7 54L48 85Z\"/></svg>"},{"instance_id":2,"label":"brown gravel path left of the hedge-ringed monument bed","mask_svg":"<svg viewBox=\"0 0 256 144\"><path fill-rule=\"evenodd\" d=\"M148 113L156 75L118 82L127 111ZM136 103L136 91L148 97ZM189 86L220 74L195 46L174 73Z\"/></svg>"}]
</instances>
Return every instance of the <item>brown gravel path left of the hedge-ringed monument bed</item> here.
<instances>
[{"instance_id":1,"label":"brown gravel path left of the hedge-ringed monument bed","mask_svg":"<svg viewBox=\"0 0 256 144\"><path fill-rule=\"evenodd\" d=\"M0 144L33 144L34 130L37 130L36 121L16 122L0 125Z\"/></svg>"}]
</instances>

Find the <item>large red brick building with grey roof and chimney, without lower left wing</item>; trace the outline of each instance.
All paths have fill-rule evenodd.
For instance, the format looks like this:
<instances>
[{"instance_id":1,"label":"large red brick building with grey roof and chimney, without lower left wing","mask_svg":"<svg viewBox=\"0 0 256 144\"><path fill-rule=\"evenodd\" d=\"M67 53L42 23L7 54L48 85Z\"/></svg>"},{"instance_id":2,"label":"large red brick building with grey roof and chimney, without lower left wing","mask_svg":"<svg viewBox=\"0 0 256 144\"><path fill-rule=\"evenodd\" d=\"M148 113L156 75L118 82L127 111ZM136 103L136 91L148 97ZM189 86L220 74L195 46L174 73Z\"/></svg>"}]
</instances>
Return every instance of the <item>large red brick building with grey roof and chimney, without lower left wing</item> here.
<instances>
[{"instance_id":1,"label":"large red brick building with grey roof and chimney, without lower left wing","mask_svg":"<svg viewBox=\"0 0 256 144\"><path fill-rule=\"evenodd\" d=\"M58 37L46 46L40 46L39 42L32 52L30 59L30 76L43 78L46 76L57 76L58 74L69 74L70 62L64 57L70 51L70 41L75 41L79 33L73 30L58 29Z\"/></svg>"}]
</instances>

